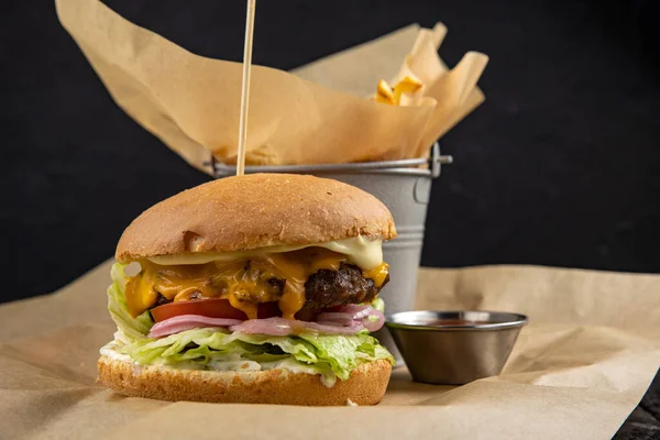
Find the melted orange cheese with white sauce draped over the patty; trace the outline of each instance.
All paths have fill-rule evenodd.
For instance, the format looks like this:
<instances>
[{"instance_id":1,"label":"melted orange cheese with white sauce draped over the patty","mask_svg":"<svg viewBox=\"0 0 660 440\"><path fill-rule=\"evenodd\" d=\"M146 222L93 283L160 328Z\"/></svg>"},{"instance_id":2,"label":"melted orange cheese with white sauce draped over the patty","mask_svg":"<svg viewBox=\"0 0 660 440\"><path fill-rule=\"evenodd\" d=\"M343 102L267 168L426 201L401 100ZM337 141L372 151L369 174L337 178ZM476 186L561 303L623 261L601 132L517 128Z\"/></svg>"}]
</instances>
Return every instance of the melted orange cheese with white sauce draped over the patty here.
<instances>
[{"instance_id":1,"label":"melted orange cheese with white sauce draped over the patty","mask_svg":"<svg viewBox=\"0 0 660 440\"><path fill-rule=\"evenodd\" d=\"M337 271L341 263L348 262L362 268L363 276L373 279L376 287L385 282L388 266L383 263L381 241L351 239L323 244L300 246L297 251L282 251L284 246L278 246L279 252L260 250L144 260L140 262L140 274L127 284L127 305L136 317L152 307L158 295L175 302L221 298L254 319L260 302L277 301L283 318L294 319L305 305L307 278L320 270ZM282 292L273 278L286 279Z\"/></svg>"}]
</instances>

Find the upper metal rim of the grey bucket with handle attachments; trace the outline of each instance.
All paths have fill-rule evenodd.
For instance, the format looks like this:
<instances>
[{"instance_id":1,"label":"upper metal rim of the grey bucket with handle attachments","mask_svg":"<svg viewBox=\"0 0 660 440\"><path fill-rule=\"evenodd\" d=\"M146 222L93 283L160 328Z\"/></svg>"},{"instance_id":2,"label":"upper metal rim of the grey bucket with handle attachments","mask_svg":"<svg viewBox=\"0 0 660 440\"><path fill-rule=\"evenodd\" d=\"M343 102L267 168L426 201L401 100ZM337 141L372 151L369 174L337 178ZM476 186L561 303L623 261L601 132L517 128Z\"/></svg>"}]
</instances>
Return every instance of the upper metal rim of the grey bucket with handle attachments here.
<instances>
[{"instance_id":1,"label":"upper metal rim of the grey bucket with handle attachments","mask_svg":"<svg viewBox=\"0 0 660 440\"><path fill-rule=\"evenodd\" d=\"M380 161L380 162L360 162L350 164L312 164L312 165L268 165L268 166L246 166L245 174L254 173L364 173L364 174L406 174L430 176L437 178L440 176L442 165L453 163L453 157L440 154L440 145L436 142L431 148L430 158L406 158L400 161ZM410 168L413 166L429 165L429 169ZM204 165L210 166L213 177L221 178L237 174L237 167L227 165L211 155L210 162Z\"/></svg>"}]
</instances>

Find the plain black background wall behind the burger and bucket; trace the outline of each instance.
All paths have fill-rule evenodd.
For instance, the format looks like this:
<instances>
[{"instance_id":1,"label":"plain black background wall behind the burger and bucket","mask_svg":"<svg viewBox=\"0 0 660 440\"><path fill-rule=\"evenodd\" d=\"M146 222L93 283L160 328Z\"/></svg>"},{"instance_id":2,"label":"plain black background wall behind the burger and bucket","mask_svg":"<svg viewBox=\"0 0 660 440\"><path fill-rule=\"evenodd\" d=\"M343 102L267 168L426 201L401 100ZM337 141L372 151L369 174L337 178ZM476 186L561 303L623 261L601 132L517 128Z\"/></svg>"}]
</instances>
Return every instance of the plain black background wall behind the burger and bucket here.
<instances>
[{"instance_id":1,"label":"plain black background wall behind the burger and bucket","mask_svg":"<svg viewBox=\"0 0 660 440\"><path fill-rule=\"evenodd\" d=\"M244 1L121 0L129 20L242 57ZM487 100L443 139L422 263L660 272L658 2L258 2L254 62L290 69L413 22L440 55L491 56ZM52 292L113 253L143 209L208 177L111 100L54 3L1 13L0 300Z\"/></svg>"}]
</instances>

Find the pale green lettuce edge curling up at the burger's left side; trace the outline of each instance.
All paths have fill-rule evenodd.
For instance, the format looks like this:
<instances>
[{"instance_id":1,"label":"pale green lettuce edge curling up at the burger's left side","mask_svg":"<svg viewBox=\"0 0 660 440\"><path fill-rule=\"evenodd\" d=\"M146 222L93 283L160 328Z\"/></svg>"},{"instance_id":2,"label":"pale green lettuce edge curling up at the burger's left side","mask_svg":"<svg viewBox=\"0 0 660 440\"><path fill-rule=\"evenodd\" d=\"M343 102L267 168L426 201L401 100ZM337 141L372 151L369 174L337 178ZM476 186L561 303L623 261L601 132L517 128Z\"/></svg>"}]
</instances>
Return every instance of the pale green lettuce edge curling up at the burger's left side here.
<instances>
[{"instance_id":1,"label":"pale green lettuce edge curling up at the burger's left side","mask_svg":"<svg viewBox=\"0 0 660 440\"><path fill-rule=\"evenodd\" d=\"M108 310L117 328L130 339L146 338L148 330L154 324L148 311L133 318L127 307L124 287L127 285L125 265L114 263L110 271L112 285L108 287Z\"/></svg>"}]
</instances>

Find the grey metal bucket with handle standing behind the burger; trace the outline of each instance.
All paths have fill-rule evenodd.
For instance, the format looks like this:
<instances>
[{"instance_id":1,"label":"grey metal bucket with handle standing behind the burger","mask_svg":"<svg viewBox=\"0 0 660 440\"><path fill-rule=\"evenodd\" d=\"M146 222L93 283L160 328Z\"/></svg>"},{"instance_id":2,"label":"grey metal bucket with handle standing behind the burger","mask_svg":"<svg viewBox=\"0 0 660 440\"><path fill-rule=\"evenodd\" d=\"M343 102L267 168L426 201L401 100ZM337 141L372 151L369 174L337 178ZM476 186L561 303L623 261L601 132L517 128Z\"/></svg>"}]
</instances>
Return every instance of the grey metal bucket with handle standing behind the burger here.
<instances>
[{"instance_id":1,"label":"grey metal bucket with handle standing behind the burger","mask_svg":"<svg viewBox=\"0 0 660 440\"><path fill-rule=\"evenodd\" d=\"M391 280L381 292L386 312L413 310L417 290L417 271L421 258L427 206L431 195L431 182L440 176L441 165L451 164L451 156L440 155L436 143L431 158L366 162L355 164L246 166L245 174L290 173L311 174L344 182L371 193L392 212L398 238L383 244L384 260L389 263ZM429 165L420 168L420 165ZM218 162L210 164L216 178L235 175L235 167ZM376 338L394 354L402 358L385 328Z\"/></svg>"}]
</instances>

